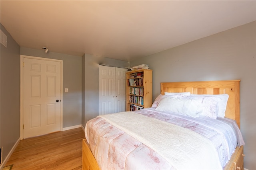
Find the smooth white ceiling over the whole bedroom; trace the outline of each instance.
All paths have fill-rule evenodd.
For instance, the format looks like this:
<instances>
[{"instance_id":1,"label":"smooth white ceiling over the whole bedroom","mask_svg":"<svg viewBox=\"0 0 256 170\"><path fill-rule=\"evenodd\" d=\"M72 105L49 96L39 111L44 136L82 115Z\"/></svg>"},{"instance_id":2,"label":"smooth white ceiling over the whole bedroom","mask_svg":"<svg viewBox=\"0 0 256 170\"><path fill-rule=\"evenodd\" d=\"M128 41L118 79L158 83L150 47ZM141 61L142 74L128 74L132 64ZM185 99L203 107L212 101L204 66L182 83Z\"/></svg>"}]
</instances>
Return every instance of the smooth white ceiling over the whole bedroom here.
<instances>
[{"instance_id":1,"label":"smooth white ceiling over the whole bedroom","mask_svg":"<svg viewBox=\"0 0 256 170\"><path fill-rule=\"evenodd\" d=\"M256 20L256 1L1 0L20 47L132 61Z\"/></svg>"}]
</instances>

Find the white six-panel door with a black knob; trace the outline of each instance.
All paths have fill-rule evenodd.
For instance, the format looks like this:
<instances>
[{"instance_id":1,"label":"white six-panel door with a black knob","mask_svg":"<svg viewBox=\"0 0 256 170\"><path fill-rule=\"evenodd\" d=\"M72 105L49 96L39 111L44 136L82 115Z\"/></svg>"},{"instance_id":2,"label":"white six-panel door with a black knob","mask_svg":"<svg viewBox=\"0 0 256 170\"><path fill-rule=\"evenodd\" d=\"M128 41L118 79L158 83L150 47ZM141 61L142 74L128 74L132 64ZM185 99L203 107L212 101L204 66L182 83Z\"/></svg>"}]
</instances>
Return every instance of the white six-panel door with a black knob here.
<instances>
[{"instance_id":1,"label":"white six-panel door with a black knob","mask_svg":"<svg viewBox=\"0 0 256 170\"><path fill-rule=\"evenodd\" d=\"M24 138L60 131L60 62L23 61Z\"/></svg>"}]
</instances>

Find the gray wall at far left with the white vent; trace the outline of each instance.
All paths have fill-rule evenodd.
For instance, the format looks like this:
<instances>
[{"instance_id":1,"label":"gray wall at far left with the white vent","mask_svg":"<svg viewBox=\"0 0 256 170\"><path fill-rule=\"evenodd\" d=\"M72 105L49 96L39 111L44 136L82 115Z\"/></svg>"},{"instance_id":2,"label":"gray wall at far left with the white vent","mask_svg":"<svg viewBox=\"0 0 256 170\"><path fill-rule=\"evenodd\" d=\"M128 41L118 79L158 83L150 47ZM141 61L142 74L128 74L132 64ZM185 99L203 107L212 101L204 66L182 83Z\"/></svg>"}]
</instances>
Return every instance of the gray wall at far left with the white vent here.
<instances>
[{"instance_id":1,"label":"gray wall at far left with the white vent","mask_svg":"<svg viewBox=\"0 0 256 170\"><path fill-rule=\"evenodd\" d=\"M3 160L20 138L20 46L7 35L7 48L0 46L0 147Z\"/></svg>"}]
</instances>

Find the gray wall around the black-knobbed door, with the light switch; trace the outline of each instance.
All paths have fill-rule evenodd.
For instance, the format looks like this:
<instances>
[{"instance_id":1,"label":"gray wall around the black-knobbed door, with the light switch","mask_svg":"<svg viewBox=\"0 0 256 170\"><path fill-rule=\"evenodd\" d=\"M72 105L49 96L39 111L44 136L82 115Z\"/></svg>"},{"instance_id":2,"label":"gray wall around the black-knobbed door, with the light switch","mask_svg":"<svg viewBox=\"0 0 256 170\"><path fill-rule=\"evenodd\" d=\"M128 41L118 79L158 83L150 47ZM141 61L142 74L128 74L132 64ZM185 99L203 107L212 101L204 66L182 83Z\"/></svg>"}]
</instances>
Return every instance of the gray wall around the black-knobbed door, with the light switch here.
<instances>
[{"instance_id":1,"label":"gray wall around the black-knobbed door, with the light switch","mask_svg":"<svg viewBox=\"0 0 256 170\"><path fill-rule=\"evenodd\" d=\"M82 117L82 57L43 50L20 48L21 55L63 61L63 127L81 125ZM68 92L65 92L68 88Z\"/></svg>"}]
</instances>

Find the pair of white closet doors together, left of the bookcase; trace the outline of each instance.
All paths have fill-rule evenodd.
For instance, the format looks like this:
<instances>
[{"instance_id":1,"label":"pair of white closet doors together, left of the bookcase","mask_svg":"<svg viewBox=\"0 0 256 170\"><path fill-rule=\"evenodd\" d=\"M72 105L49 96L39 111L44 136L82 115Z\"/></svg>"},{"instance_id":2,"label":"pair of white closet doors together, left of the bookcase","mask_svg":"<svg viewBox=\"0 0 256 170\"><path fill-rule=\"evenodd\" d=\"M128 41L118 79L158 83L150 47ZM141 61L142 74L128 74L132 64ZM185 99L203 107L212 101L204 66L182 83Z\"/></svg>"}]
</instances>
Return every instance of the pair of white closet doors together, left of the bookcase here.
<instances>
[{"instance_id":1,"label":"pair of white closet doors together, left of the bookcase","mask_svg":"<svg viewBox=\"0 0 256 170\"><path fill-rule=\"evenodd\" d=\"M99 115L125 111L126 68L99 66Z\"/></svg>"}]
</instances>

